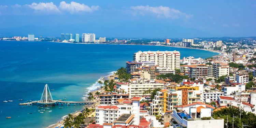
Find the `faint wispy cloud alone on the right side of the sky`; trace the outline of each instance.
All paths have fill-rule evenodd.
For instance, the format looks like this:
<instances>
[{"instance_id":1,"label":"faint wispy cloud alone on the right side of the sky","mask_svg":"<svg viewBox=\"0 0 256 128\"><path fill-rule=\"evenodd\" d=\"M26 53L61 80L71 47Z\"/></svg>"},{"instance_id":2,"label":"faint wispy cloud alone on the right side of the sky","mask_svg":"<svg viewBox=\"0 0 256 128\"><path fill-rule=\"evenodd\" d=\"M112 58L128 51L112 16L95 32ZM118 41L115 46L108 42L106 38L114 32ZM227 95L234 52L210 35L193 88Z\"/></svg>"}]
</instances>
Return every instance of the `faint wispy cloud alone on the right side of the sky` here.
<instances>
[{"instance_id":1,"label":"faint wispy cloud alone on the right side of the sky","mask_svg":"<svg viewBox=\"0 0 256 128\"><path fill-rule=\"evenodd\" d=\"M169 8L167 6L131 6L131 10L133 11L133 15L146 15L146 14L156 14L158 17L166 17L166 18L172 18L177 19L180 17L190 18L192 15L188 15L186 13L183 13L179 10Z\"/></svg>"}]
</instances>

